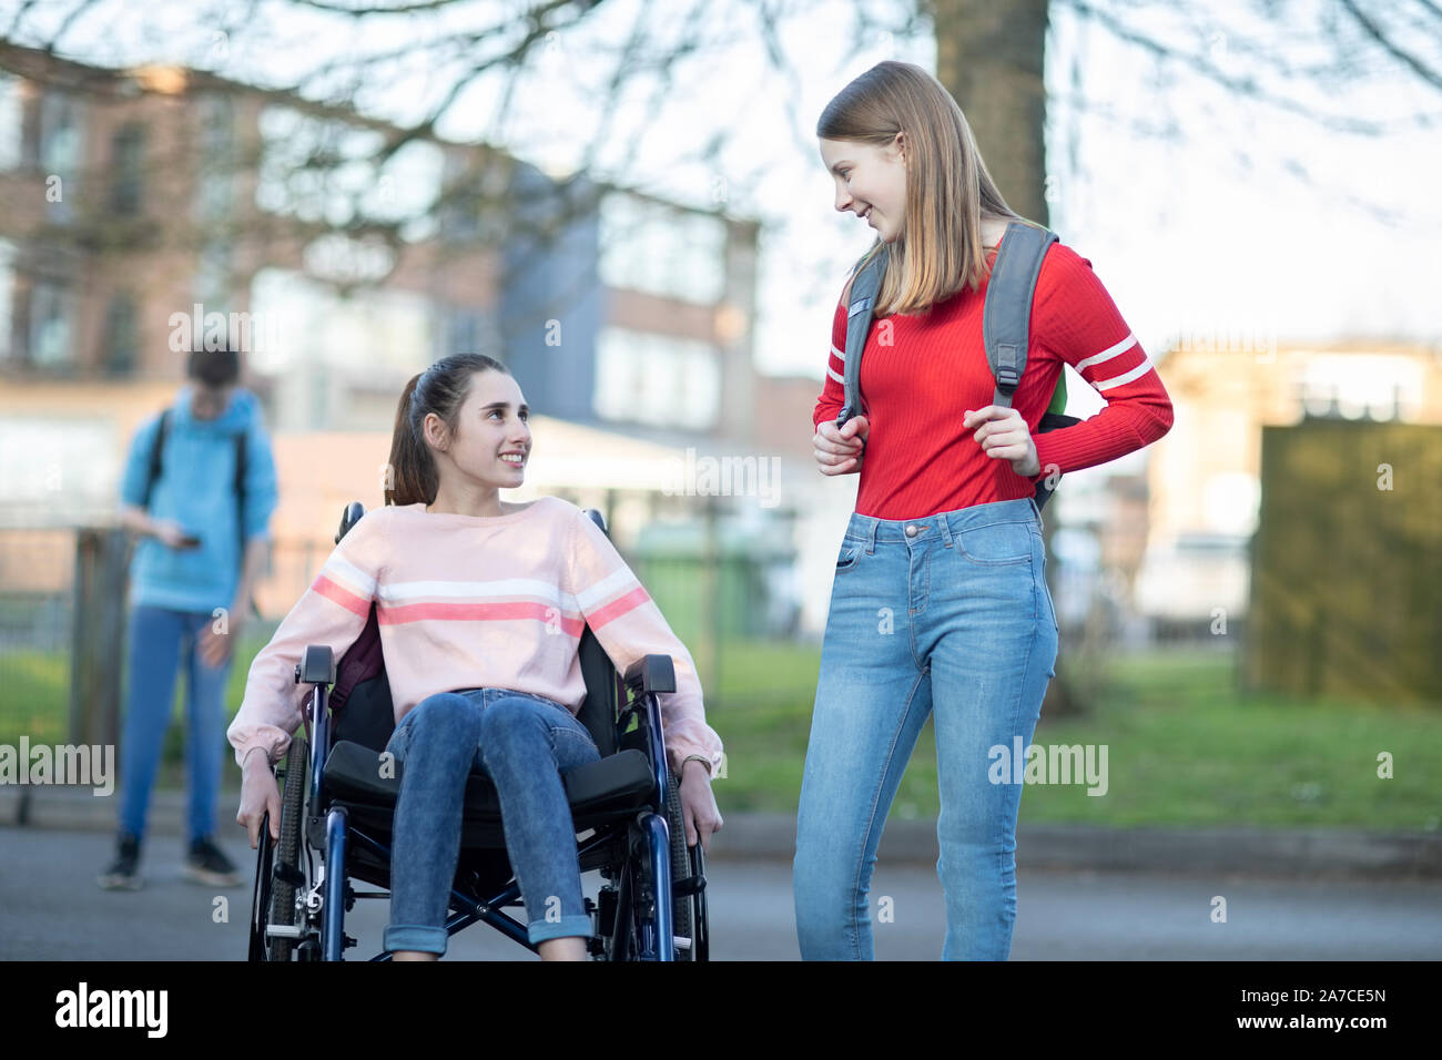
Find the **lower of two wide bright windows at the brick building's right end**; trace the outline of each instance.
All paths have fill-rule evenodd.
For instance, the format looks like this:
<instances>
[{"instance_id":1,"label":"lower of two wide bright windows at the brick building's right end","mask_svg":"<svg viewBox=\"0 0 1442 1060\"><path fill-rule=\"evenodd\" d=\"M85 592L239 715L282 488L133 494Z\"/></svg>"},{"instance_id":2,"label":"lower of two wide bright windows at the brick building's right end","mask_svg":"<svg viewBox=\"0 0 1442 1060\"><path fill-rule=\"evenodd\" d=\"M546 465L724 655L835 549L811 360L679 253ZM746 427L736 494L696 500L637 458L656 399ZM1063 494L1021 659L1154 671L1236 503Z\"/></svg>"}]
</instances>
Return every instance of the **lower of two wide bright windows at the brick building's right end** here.
<instances>
[{"instance_id":1,"label":"lower of two wide bright windows at the brick building's right end","mask_svg":"<svg viewBox=\"0 0 1442 1060\"><path fill-rule=\"evenodd\" d=\"M704 342L603 329L594 408L603 420L711 430L721 410L720 353Z\"/></svg>"}]
</instances>

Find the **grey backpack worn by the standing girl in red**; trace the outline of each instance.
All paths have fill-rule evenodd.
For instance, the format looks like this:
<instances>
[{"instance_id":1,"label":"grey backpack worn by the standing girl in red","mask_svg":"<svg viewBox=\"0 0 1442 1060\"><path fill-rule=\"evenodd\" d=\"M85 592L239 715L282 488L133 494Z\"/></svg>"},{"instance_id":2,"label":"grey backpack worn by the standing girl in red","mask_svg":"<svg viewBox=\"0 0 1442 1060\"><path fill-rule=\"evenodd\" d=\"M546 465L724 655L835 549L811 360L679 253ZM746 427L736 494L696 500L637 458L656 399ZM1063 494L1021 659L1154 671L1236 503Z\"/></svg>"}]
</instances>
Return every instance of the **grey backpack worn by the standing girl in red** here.
<instances>
[{"instance_id":1,"label":"grey backpack worn by the standing girl in red","mask_svg":"<svg viewBox=\"0 0 1442 1060\"><path fill-rule=\"evenodd\" d=\"M1047 248L1057 241L1057 234L1037 225L1012 221L996 249L991 278L986 283L986 304L982 309L982 339L986 345L986 363L996 382L994 405L1011 408L1017 384L1027 371L1027 346L1031 335L1031 299L1037 290L1037 275ZM851 284L851 304L846 307L846 398L836 415L836 427L842 427L861 411L861 353L871 332L871 310L881 290L890 252L885 244L864 258L857 267ZM1082 423L1074 415L1064 415L1067 407L1066 372L1057 376L1057 388L1051 402L1037 424L1037 434L1045 434L1061 427ZM1045 479L1037 483L1037 511L1051 499L1051 487Z\"/></svg>"}]
</instances>

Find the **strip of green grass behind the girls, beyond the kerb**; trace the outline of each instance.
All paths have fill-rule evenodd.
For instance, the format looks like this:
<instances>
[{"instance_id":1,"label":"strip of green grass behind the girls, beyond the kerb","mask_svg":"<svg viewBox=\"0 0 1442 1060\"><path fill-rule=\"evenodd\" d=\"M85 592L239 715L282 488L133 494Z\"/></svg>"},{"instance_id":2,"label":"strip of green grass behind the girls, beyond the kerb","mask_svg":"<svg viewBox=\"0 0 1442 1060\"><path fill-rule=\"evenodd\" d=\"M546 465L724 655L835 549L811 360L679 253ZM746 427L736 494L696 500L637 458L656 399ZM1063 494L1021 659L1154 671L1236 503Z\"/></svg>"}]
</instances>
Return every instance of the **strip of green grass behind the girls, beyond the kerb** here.
<instances>
[{"instance_id":1,"label":"strip of green grass behind the girls, beyond the kerb","mask_svg":"<svg viewBox=\"0 0 1442 1060\"><path fill-rule=\"evenodd\" d=\"M231 669L228 711L239 707L262 637L242 642ZM699 662L699 659L698 659ZM705 663L701 663L702 666ZM810 734L820 649L733 643L707 694L711 725L727 750L715 782L722 813L795 813ZM705 673L702 678L705 679ZM65 655L0 659L0 743L66 738ZM177 688L176 720L182 717ZM1304 701L1236 691L1224 655L1187 652L1119 658L1092 712L1051 720L1038 744L1106 744L1107 792L1028 785L1030 822L1115 826L1345 826L1435 829L1442 816L1442 704L1433 707ZM1393 779L1377 754L1393 754ZM182 783L183 730L172 725L160 783ZM226 767L234 786L238 770ZM891 809L893 819L934 819L936 744L927 721Z\"/></svg>"}]
</instances>

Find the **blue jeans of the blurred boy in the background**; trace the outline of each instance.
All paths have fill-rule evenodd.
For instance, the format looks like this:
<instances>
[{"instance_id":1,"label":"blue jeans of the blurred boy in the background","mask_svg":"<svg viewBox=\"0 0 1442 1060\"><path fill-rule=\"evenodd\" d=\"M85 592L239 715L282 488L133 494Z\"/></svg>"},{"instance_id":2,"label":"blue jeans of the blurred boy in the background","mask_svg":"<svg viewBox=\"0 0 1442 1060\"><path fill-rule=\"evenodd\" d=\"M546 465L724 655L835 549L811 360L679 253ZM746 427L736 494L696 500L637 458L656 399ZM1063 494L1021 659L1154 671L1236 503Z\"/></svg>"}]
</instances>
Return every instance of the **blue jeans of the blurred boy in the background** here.
<instances>
[{"instance_id":1,"label":"blue jeans of the blurred boy in the background","mask_svg":"<svg viewBox=\"0 0 1442 1060\"><path fill-rule=\"evenodd\" d=\"M120 734L120 828L146 835L150 789L170 727L176 672L186 671L186 772L190 785L190 839L216 832L225 743L225 684L232 656L219 666L200 658L200 632L215 622L209 611L133 607L128 623L125 721Z\"/></svg>"}]
</instances>

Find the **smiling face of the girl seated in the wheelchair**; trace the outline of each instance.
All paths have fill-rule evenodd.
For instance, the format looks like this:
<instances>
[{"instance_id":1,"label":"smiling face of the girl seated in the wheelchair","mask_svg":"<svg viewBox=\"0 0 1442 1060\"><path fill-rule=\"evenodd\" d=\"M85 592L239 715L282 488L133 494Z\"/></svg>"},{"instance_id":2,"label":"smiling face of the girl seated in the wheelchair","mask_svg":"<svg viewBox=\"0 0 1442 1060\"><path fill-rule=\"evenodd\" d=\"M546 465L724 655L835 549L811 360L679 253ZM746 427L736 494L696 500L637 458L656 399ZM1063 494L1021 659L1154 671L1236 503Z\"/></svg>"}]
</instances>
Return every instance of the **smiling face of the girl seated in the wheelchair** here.
<instances>
[{"instance_id":1,"label":"smiling face of the girl seated in the wheelchair","mask_svg":"<svg viewBox=\"0 0 1442 1060\"><path fill-rule=\"evenodd\" d=\"M434 412L425 417L425 441L441 489L450 483L460 486L460 492L515 489L525 482L531 457L529 418L531 410L513 376L473 372L470 392L456 412L454 431Z\"/></svg>"}]
</instances>

